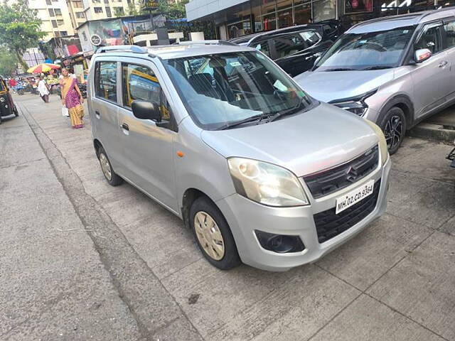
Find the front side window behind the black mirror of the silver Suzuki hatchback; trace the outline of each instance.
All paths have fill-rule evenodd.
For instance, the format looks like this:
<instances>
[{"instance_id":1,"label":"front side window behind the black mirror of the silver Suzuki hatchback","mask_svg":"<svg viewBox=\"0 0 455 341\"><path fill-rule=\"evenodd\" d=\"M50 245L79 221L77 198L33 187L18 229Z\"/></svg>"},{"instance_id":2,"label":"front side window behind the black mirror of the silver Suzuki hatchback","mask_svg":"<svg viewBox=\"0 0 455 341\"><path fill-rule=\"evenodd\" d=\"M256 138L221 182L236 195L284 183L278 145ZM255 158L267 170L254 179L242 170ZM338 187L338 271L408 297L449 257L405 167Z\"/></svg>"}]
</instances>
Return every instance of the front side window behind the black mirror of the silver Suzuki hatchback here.
<instances>
[{"instance_id":1,"label":"front side window behind the black mirror of the silver Suzuki hatchback","mask_svg":"<svg viewBox=\"0 0 455 341\"><path fill-rule=\"evenodd\" d=\"M158 78L149 67L122 63L123 105L131 107L135 99L159 104L163 119L170 119L171 110Z\"/></svg>"}]
</instances>

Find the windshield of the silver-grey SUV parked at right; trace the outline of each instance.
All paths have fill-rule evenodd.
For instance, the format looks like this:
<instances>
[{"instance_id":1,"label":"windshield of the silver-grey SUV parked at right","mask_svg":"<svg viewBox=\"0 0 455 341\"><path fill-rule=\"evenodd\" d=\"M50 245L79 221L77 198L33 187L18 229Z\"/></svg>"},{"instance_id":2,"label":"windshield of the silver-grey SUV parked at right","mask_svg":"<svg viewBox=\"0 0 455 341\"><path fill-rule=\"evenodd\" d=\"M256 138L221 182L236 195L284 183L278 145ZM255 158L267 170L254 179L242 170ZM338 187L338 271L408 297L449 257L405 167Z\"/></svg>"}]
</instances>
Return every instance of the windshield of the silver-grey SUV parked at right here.
<instances>
[{"instance_id":1,"label":"windshield of the silver-grey SUV parked at right","mask_svg":"<svg viewBox=\"0 0 455 341\"><path fill-rule=\"evenodd\" d=\"M389 31L346 33L317 63L315 70L379 70L400 63L414 26Z\"/></svg>"}]
</instances>

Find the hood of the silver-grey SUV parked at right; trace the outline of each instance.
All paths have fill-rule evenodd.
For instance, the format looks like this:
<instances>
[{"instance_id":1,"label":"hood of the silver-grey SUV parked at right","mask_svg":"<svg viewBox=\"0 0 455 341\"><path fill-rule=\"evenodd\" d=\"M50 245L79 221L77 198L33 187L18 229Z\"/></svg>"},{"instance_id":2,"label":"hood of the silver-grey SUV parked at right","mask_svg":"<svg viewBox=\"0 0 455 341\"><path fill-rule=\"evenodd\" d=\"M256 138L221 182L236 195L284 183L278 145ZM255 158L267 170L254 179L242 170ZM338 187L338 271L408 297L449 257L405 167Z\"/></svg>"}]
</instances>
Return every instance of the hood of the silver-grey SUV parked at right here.
<instances>
[{"instance_id":1,"label":"hood of the silver-grey SUV parked at right","mask_svg":"<svg viewBox=\"0 0 455 341\"><path fill-rule=\"evenodd\" d=\"M394 69L365 71L307 71L294 80L322 102L359 96L375 90L394 77Z\"/></svg>"}]
</instances>

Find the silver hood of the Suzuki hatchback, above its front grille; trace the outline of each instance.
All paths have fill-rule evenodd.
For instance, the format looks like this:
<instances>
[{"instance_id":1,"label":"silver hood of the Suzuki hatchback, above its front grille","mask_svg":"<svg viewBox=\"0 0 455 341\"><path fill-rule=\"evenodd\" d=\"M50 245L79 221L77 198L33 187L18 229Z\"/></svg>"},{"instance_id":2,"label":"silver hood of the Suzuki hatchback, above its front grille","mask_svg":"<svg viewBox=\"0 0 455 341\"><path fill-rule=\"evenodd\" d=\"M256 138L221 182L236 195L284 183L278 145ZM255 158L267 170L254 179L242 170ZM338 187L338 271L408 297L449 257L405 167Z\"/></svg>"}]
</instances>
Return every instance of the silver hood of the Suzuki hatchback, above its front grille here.
<instances>
[{"instance_id":1,"label":"silver hood of the Suzuki hatchback, above its front grille","mask_svg":"<svg viewBox=\"0 0 455 341\"><path fill-rule=\"evenodd\" d=\"M266 161L297 176L345 163L378 144L378 136L362 118L323 103L270 123L205 130L201 138L225 158Z\"/></svg>"}]
</instances>

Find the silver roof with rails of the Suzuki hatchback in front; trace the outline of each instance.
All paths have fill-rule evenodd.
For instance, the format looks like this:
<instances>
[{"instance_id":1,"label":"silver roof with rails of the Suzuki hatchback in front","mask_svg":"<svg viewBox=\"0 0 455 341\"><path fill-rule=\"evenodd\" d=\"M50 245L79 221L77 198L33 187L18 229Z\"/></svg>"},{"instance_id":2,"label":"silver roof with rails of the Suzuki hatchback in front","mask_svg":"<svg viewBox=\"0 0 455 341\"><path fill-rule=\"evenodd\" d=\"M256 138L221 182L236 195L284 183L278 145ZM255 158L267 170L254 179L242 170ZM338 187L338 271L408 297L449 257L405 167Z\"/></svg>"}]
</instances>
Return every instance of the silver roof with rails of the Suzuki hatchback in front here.
<instances>
[{"instance_id":1,"label":"silver roof with rails of the Suzuki hatchback in front","mask_svg":"<svg viewBox=\"0 0 455 341\"><path fill-rule=\"evenodd\" d=\"M219 45L215 43L185 43L182 45L157 45L149 48L140 48L134 45L119 45L109 47L109 50L105 50L102 53L96 53L97 57L103 55L116 55L116 56L143 56L149 55L149 57L158 57L161 59L173 59L173 58L184 58L193 57L198 55L211 55L215 53L235 53L245 51L256 51L254 48L248 48L245 46L230 44L230 45Z\"/></svg>"}]
</instances>

